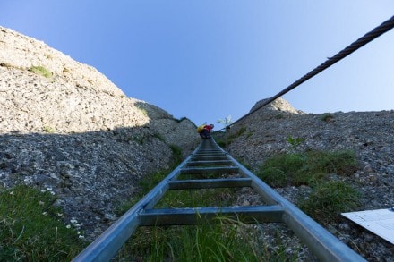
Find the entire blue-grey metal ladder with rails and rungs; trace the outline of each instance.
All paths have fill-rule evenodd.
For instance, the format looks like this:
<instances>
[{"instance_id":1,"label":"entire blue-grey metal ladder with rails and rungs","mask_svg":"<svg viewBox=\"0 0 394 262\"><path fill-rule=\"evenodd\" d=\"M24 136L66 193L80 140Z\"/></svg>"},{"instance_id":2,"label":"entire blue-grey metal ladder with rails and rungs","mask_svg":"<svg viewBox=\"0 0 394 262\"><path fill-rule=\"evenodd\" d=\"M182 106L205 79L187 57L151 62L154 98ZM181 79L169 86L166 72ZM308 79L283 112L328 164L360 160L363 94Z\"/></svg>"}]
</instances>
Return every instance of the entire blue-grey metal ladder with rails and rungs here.
<instances>
[{"instance_id":1,"label":"entire blue-grey metal ladder with rails and rungs","mask_svg":"<svg viewBox=\"0 0 394 262\"><path fill-rule=\"evenodd\" d=\"M240 173L241 178L178 180L184 173ZM270 206L154 208L167 190L251 187ZM82 250L73 261L109 261L116 256L138 226L215 223L215 217L231 216L244 223L281 222L321 261L365 261L343 242L316 223L229 156L214 139L201 144L137 204Z\"/></svg>"}]
</instances>

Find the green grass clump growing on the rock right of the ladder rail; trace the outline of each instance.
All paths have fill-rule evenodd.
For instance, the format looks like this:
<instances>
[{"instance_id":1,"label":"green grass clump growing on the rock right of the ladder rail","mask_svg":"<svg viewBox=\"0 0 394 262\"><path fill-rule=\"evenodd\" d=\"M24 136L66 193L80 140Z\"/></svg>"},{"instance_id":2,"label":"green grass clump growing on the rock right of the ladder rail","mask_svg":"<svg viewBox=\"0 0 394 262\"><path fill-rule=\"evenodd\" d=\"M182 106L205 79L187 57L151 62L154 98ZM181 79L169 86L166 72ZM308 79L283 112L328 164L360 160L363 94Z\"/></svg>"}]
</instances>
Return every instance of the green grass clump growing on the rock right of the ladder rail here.
<instances>
[{"instance_id":1,"label":"green grass clump growing on the rock right of the ladder rail","mask_svg":"<svg viewBox=\"0 0 394 262\"><path fill-rule=\"evenodd\" d=\"M330 181L329 174L347 177L357 169L351 151L284 154L270 157L257 173L272 187L309 185L312 193L298 205L318 222L336 221L342 212L355 210L361 194L342 181Z\"/></svg>"}]
</instances>

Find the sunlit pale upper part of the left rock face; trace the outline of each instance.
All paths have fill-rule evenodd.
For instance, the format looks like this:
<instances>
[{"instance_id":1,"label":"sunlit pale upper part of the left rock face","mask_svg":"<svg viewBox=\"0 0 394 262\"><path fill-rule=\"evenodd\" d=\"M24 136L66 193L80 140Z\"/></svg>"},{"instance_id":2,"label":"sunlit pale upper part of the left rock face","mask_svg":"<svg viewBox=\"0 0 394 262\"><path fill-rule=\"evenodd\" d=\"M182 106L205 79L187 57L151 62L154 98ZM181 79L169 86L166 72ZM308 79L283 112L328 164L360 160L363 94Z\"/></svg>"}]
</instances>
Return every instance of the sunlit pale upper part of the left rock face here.
<instances>
[{"instance_id":1,"label":"sunlit pale upper part of the left rock face","mask_svg":"<svg viewBox=\"0 0 394 262\"><path fill-rule=\"evenodd\" d=\"M108 131L173 119L43 42L0 28L0 48L0 131Z\"/></svg>"}]
</instances>

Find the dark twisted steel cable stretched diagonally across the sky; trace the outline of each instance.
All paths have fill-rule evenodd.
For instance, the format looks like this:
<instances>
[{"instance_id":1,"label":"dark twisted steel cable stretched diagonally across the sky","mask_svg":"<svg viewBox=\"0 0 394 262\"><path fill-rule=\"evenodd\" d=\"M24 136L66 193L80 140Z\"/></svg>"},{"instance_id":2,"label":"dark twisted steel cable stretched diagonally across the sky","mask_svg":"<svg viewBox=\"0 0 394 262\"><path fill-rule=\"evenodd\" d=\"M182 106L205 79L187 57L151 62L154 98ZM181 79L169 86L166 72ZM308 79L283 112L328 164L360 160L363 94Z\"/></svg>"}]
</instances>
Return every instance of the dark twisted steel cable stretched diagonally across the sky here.
<instances>
[{"instance_id":1,"label":"dark twisted steel cable stretched diagonally across the sky","mask_svg":"<svg viewBox=\"0 0 394 262\"><path fill-rule=\"evenodd\" d=\"M285 95L287 92L289 92L290 90L295 89L297 86L304 83L304 81L313 78L313 76L315 76L316 74L329 68L332 64L337 63L339 60L345 58L347 55L352 54L358 48L368 44L373 39L380 37L382 34L391 30L392 28L394 28L394 16L392 16L388 21L384 21L383 23L381 23L380 26L378 26L378 27L374 28L373 30L371 30L370 32L366 33L364 35L364 37L358 38L355 42L353 42L350 46L347 46L345 49L340 51L337 55L334 55L334 56L328 58L324 63L321 63L319 66L317 66L315 69L313 69L313 71L308 72L302 78L300 78L299 80L296 80L294 83L289 85L286 89L283 89L282 91L278 92L277 95L266 99L259 107L253 109L253 111L249 112L248 114L245 114L240 119L236 120L236 122L231 123L230 125L240 122L246 116L249 116L249 115L253 114L254 112L258 111L259 109L261 109L261 107L267 106L268 104L270 104L272 101L274 101L278 97L281 97L281 96Z\"/></svg>"}]
</instances>

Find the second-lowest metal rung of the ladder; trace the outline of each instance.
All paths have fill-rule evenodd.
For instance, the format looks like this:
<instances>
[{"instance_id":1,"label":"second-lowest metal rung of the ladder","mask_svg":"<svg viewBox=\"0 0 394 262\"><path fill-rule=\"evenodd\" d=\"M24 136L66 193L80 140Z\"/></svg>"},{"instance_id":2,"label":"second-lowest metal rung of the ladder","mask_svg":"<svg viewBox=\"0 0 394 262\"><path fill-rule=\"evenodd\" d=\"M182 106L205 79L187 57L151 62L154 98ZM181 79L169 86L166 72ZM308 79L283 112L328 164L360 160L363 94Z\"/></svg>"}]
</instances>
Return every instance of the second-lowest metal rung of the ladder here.
<instances>
[{"instance_id":1,"label":"second-lowest metal rung of the ladder","mask_svg":"<svg viewBox=\"0 0 394 262\"><path fill-rule=\"evenodd\" d=\"M215 189L215 188L242 188L250 187L250 178L224 178L224 179L202 179L202 180L178 180L169 182L170 190L186 189Z\"/></svg>"}]
</instances>

